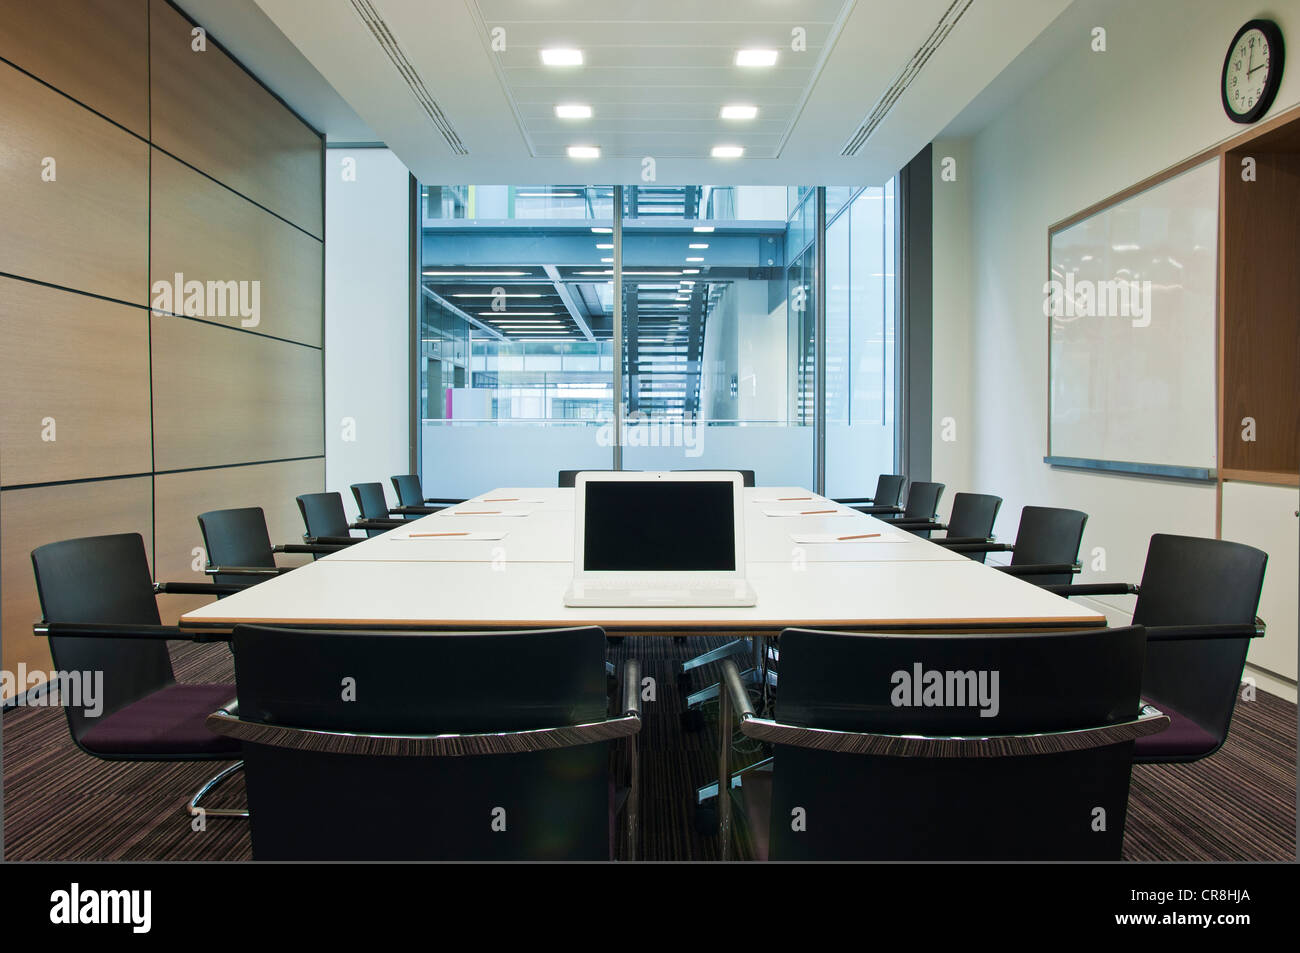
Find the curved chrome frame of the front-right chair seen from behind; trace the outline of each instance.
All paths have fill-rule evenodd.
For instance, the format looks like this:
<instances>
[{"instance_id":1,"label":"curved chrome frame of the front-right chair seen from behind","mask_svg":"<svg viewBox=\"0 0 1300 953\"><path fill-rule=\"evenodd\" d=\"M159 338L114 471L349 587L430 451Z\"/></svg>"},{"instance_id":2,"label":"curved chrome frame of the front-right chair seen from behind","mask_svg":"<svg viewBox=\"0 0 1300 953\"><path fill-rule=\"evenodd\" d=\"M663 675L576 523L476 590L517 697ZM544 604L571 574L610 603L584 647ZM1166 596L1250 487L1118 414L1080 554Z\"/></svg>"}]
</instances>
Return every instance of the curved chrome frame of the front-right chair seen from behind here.
<instances>
[{"instance_id":1,"label":"curved chrome frame of the front-right chair seen from behind","mask_svg":"<svg viewBox=\"0 0 1300 953\"><path fill-rule=\"evenodd\" d=\"M749 692L741 681L740 671L731 659L723 662L723 685L719 696L718 719L718 790L736 785L731 772L732 712L740 722L741 732L755 741L812 748L822 751L870 754L892 758L1009 758L1028 754L1054 754L1105 748L1132 741L1144 735L1156 735L1169 727L1169 715L1144 705L1138 718L1095 728L1075 728L1057 732L1018 735L885 735L880 732L833 731L784 724L770 718L759 718L750 703ZM749 770L753 770L751 766ZM722 836L722 859L731 859L731 797L718 798L718 833Z\"/></svg>"}]
</instances>

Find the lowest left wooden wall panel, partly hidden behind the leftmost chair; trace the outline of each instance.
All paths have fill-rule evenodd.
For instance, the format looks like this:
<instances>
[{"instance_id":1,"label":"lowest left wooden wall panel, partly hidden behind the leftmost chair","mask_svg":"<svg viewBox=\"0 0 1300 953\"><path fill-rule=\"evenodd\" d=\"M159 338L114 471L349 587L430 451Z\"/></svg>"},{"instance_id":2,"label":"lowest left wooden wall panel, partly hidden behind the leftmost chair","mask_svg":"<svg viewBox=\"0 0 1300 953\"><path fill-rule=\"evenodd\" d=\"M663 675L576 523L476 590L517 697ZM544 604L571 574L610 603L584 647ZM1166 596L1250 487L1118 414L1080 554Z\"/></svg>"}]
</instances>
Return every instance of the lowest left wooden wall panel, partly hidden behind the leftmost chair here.
<instances>
[{"instance_id":1,"label":"lowest left wooden wall panel, partly hidden behind the leftmost chair","mask_svg":"<svg viewBox=\"0 0 1300 953\"><path fill-rule=\"evenodd\" d=\"M31 550L79 536L139 533L152 550L151 477L98 480L62 486L32 486L0 493L0 590L4 592L3 645L5 668L20 662L49 668L46 641L31 634L40 618ZM152 559L152 556L151 556Z\"/></svg>"}]
</instances>

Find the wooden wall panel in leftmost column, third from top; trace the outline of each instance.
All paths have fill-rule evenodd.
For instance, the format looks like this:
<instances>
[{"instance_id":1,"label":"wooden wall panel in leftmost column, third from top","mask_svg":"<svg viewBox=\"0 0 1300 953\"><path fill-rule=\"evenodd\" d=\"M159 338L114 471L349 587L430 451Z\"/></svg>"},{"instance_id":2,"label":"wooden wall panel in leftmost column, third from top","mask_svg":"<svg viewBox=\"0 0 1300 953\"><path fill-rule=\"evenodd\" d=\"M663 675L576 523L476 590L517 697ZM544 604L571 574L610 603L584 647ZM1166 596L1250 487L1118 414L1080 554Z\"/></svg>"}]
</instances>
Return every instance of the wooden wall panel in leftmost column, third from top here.
<instances>
[{"instance_id":1,"label":"wooden wall panel in leftmost column, third from top","mask_svg":"<svg viewBox=\"0 0 1300 953\"><path fill-rule=\"evenodd\" d=\"M148 320L143 308L0 278L0 484L153 468Z\"/></svg>"}]
</instances>

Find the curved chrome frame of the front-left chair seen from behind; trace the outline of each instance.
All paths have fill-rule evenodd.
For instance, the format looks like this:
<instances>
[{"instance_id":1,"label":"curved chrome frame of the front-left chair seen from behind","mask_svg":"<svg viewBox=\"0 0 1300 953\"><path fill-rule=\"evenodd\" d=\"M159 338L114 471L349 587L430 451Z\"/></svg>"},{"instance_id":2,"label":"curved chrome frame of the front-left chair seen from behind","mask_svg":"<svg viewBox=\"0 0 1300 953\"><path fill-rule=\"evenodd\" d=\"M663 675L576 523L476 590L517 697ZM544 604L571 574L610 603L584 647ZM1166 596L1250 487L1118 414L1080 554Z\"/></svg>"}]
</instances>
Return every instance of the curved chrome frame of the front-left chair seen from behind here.
<instances>
[{"instance_id":1,"label":"curved chrome frame of the front-left chair seen from behind","mask_svg":"<svg viewBox=\"0 0 1300 953\"><path fill-rule=\"evenodd\" d=\"M573 748L601 741L628 740L630 789L627 800L627 855L636 859L640 837L640 785L637 735L641 732L641 664L628 659L623 666L621 715L584 724L530 728L502 732L448 732L442 735L384 735L294 728L239 718L239 702L228 705L207 718L207 727L216 735L270 748L302 751L369 757L464 758L482 754L523 754ZM228 768L229 771L229 768ZM220 783L220 781L217 781ZM200 796L204 792L200 792Z\"/></svg>"}]
</instances>

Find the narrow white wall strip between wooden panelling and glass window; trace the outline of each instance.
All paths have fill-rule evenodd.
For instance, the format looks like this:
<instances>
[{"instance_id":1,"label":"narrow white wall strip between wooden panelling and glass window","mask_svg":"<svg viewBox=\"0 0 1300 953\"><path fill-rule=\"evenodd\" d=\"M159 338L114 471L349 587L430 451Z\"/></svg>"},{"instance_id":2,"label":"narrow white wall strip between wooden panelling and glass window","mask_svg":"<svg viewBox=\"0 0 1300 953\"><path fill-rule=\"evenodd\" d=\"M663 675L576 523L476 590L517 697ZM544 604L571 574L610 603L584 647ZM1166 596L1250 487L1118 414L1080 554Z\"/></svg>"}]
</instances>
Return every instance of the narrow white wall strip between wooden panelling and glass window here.
<instances>
[{"instance_id":1,"label":"narrow white wall strip between wooden panelling and glass window","mask_svg":"<svg viewBox=\"0 0 1300 953\"><path fill-rule=\"evenodd\" d=\"M410 173L387 150L326 150L325 489L351 519L351 484L380 481L395 506L389 477L411 471L408 202Z\"/></svg>"}]
</instances>

